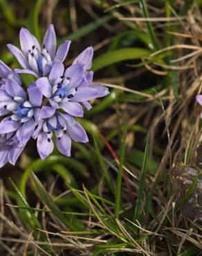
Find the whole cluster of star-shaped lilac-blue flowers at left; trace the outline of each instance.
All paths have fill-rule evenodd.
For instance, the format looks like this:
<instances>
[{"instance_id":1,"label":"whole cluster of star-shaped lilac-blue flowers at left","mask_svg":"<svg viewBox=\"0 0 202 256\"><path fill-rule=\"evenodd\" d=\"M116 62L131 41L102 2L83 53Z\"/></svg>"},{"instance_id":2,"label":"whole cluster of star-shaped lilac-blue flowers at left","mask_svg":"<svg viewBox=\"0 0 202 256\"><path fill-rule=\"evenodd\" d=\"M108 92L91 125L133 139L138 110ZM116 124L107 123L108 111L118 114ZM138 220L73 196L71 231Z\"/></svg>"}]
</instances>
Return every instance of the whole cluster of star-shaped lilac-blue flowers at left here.
<instances>
[{"instance_id":1,"label":"whole cluster of star-shaped lilac-blue flowers at left","mask_svg":"<svg viewBox=\"0 0 202 256\"><path fill-rule=\"evenodd\" d=\"M53 152L53 138L59 152L71 156L71 140L88 142L74 117L84 115L83 107L91 109L89 100L109 93L106 87L93 83L92 47L65 69L63 62L71 42L56 48L52 24L42 48L26 28L21 28L19 41L21 50L12 44L8 48L22 68L12 71L0 61L0 167L7 162L15 165L30 138L37 139L42 159ZM24 89L20 73L34 75L35 82Z\"/></svg>"}]
</instances>

